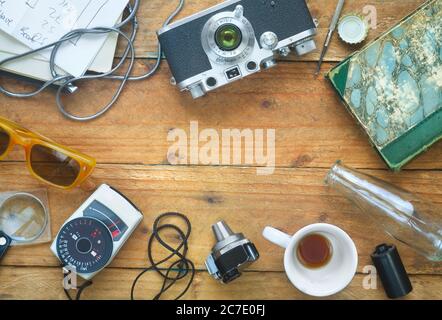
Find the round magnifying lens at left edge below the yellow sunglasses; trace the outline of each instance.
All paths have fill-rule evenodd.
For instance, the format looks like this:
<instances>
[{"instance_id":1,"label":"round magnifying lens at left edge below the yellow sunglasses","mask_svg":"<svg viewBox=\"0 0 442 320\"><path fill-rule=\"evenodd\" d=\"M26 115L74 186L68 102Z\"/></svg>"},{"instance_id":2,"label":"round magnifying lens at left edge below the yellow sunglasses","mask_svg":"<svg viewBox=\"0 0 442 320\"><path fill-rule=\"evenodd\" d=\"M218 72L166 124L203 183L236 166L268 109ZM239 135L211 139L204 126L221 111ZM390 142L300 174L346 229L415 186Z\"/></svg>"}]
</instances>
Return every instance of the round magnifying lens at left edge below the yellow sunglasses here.
<instances>
[{"instance_id":1,"label":"round magnifying lens at left edge below the yellow sunglasses","mask_svg":"<svg viewBox=\"0 0 442 320\"><path fill-rule=\"evenodd\" d=\"M11 245L31 244L48 225L47 210L36 196L16 193L0 206L0 259Z\"/></svg>"}]
</instances>

